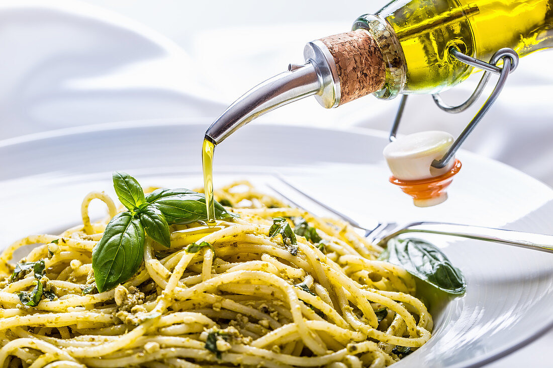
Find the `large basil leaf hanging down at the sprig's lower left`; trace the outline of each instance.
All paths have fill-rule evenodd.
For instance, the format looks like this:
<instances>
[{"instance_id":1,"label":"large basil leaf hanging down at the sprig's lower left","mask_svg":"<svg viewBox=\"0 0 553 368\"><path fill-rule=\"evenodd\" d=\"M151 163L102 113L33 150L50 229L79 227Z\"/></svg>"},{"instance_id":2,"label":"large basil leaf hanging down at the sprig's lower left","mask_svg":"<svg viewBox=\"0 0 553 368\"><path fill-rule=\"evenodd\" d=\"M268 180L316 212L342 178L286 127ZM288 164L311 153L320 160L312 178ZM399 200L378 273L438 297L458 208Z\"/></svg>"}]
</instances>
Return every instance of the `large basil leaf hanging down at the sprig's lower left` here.
<instances>
[{"instance_id":1,"label":"large basil leaf hanging down at the sprig's lower left","mask_svg":"<svg viewBox=\"0 0 553 368\"><path fill-rule=\"evenodd\" d=\"M115 215L92 251L98 291L110 290L133 276L144 257L144 228L129 212Z\"/></svg>"}]
</instances>

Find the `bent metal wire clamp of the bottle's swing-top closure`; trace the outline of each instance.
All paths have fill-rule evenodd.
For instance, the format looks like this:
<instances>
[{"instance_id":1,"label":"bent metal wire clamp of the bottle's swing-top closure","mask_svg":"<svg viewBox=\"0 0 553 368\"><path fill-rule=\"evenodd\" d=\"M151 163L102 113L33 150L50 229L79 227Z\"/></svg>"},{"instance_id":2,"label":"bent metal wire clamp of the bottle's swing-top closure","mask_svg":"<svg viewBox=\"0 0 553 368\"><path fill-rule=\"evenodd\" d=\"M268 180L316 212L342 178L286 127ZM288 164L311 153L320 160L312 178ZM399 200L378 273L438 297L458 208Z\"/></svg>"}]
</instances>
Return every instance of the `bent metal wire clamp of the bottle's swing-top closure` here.
<instances>
[{"instance_id":1,"label":"bent metal wire clamp of the bottle's swing-top closure","mask_svg":"<svg viewBox=\"0 0 553 368\"><path fill-rule=\"evenodd\" d=\"M450 162L453 156L455 156L455 153L457 152L461 144L465 141L465 139L467 139L467 136L471 134L471 132L476 127L476 124L478 124L478 122L482 120L482 117L488 112L489 108L495 102L495 100L499 96L499 93L503 90L503 86L505 86L505 82L507 82L507 77L511 72L517 69L518 62L519 62L519 56L517 52L509 48L499 49L497 52L495 52L495 54L493 54L489 62L482 61L479 59L474 59L474 57L472 56L465 55L460 50L458 50L455 46L451 46L448 52L450 52L450 55L455 59L467 65L474 66L484 70L484 75L478 82L478 85L476 86L476 89L474 90L474 92L472 92L471 96L467 98L467 101L461 103L458 106L450 106L442 100L439 94L432 94L432 98L434 99L434 102L443 111L448 113L460 113L462 111L465 111L482 94L484 87L486 87L486 84L489 81L489 77L491 76L491 73L498 74L499 79L497 83L495 83L495 87L493 88L492 93L490 93L486 102L484 102L484 104L478 110L474 118L472 118L471 122L468 123L467 127L457 137L455 142L453 142L453 144L451 145L447 153L444 155L444 157L442 157L440 160L434 160L432 162L432 166L436 167L436 169L441 169L442 167L447 166L447 164ZM500 60L503 60L503 66L497 66ZM398 133L399 122L401 120L401 115L403 115L403 110L405 108L405 103L407 102L407 97L408 97L407 94L404 94L403 96L401 96L398 112L395 115L394 124L392 125L392 129L390 130L390 136L389 136L390 141L394 141L395 136Z\"/></svg>"}]
</instances>

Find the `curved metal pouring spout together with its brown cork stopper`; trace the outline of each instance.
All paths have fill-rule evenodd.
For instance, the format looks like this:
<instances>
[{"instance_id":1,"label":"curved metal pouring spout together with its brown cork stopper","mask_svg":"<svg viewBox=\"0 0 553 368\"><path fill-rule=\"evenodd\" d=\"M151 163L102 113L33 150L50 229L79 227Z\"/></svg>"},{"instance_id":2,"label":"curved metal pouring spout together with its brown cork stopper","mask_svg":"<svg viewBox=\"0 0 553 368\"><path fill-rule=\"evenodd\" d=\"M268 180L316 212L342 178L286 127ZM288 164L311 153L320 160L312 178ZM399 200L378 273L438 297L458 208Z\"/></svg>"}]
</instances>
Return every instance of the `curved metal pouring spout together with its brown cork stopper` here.
<instances>
[{"instance_id":1,"label":"curved metal pouring spout together with its brown cork stopper","mask_svg":"<svg viewBox=\"0 0 553 368\"><path fill-rule=\"evenodd\" d=\"M386 65L371 31L358 29L305 45L305 64L290 64L229 106L207 129L205 138L221 143L259 115L300 98L315 95L336 107L384 87Z\"/></svg>"}]
</instances>

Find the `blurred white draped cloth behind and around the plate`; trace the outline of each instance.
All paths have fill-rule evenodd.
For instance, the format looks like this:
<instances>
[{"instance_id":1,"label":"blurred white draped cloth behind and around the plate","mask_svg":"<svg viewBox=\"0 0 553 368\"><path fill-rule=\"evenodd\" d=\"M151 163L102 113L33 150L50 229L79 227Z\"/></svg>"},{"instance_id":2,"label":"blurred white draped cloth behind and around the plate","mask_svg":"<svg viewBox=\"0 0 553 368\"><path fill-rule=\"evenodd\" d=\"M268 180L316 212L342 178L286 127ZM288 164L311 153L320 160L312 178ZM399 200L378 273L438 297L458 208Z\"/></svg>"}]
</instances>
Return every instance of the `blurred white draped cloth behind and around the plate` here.
<instances>
[{"instance_id":1,"label":"blurred white draped cloth behind and around the plate","mask_svg":"<svg viewBox=\"0 0 553 368\"><path fill-rule=\"evenodd\" d=\"M289 62L301 62L307 41L349 29L357 15L384 2L352 0L337 8L330 0L3 1L0 139L80 124L215 118L250 87ZM499 101L463 146L550 186L552 62L553 51L521 59ZM446 92L447 101L461 102L478 78ZM255 123L388 130L398 103L365 97L326 110L308 98ZM429 96L414 96L400 133L439 129L457 135L477 108L451 115L433 106ZM553 333L489 366L545 367L543 354L531 351L547 351L551 343Z\"/></svg>"}]
</instances>

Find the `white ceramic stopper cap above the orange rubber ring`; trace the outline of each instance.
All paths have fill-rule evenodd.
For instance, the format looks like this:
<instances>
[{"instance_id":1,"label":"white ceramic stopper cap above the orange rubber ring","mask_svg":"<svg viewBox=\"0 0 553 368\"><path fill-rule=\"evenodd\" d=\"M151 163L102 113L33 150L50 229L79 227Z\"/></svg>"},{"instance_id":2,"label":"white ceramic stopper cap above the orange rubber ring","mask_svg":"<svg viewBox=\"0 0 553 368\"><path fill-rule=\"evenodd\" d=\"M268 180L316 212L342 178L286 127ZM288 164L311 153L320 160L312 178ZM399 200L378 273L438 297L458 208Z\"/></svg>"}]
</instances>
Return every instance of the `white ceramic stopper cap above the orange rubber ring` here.
<instances>
[{"instance_id":1,"label":"white ceramic stopper cap above the orange rubber ring","mask_svg":"<svg viewBox=\"0 0 553 368\"><path fill-rule=\"evenodd\" d=\"M446 167L436 169L432 161L440 160L453 144L453 136L440 130L429 130L401 136L385 146L383 154L399 180L422 180L450 171L455 163L451 159Z\"/></svg>"}]
</instances>

